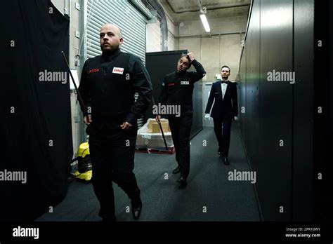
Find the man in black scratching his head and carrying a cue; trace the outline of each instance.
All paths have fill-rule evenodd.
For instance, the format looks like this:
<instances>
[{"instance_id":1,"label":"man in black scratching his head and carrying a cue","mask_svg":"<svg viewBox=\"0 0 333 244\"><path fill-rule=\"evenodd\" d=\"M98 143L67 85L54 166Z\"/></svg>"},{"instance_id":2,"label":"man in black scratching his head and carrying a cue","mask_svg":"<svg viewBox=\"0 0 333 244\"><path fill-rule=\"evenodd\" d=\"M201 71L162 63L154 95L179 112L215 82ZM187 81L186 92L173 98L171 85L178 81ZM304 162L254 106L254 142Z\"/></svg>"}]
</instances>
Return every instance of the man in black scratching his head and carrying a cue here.
<instances>
[{"instance_id":1,"label":"man in black scratching his head and carrying a cue","mask_svg":"<svg viewBox=\"0 0 333 244\"><path fill-rule=\"evenodd\" d=\"M196 72L187 71L191 65L195 67ZM169 114L168 118L178 163L173 173L181 173L177 182L182 187L187 184L186 180L190 172L190 130L193 120L192 93L194 83L205 75L204 67L195 60L193 53L183 54L177 62L176 71L164 77L159 97L159 103L162 105L180 107L180 116ZM156 116L157 122L160 118L161 116Z\"/></svg>"}]
</instances>

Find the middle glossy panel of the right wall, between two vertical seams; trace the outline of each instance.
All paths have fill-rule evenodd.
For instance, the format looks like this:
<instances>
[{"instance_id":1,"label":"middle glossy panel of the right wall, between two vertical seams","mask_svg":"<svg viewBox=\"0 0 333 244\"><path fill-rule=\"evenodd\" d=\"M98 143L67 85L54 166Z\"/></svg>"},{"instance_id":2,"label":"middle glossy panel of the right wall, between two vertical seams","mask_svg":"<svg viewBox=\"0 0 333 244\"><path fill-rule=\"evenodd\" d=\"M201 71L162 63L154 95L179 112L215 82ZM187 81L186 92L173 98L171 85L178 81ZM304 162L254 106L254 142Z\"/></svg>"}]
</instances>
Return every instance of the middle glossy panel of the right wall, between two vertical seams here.
<instances>
[{"instance_id":1,"label":"middle glossy panel of the right wall, between two vertical seams","mask_svg":"<svg viewBox=\"0 0 333 244\"><path fill-rule=\"evenodd\" d=\"M257 173L257 182L262 182L258 184L258 192L263 201L264 220L289 220L292 211L292 85L287 81L268 81L268 72L293 71L293 1L261 1L260 13L259 141L263 157L260 158L261 171Z\"/></svg>"}]
</instances>

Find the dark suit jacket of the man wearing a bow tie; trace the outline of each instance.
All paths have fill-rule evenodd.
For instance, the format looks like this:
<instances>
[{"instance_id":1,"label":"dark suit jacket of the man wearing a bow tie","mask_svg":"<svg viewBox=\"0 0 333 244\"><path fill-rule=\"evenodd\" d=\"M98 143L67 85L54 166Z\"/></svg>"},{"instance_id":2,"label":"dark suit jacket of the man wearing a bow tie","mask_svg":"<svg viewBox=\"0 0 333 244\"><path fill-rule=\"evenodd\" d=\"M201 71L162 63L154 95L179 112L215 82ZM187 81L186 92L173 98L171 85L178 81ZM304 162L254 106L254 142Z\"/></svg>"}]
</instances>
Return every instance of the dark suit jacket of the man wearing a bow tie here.
<instances>
[{"instance_id":1,"label":"dark suit jacket of the man wearing a bow tie","mask_svg":"<svg viewBox=\"0 0 333 244\"><path fill-rule=\"evenodd\" d=\"M216 81L211 86L211 93L209 94L208 103L206 107L206 114L211 111L213 118L233 118L238 115L237 103L237 83L228 82L226 94L222 99L221 81ZM214 102L215 100L215 102ZM214 102L213 109L211 105Z\"/></svg>"}]
</instances>

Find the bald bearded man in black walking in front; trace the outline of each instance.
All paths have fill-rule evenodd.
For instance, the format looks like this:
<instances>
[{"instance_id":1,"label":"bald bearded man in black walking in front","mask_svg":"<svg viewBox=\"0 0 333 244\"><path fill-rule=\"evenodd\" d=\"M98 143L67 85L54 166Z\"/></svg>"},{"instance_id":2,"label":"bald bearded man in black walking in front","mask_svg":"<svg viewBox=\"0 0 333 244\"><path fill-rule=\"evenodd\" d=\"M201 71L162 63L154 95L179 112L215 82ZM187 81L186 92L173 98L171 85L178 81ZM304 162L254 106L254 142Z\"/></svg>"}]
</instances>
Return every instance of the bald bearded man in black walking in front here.
<instances>
[{"instance_id":1,"label":"bald bearded man in black walking in front","mask_svg":"<svg viewBox=\"0 0 333 244\"><path fill-rule=\"evenodd\" d=\"M131 199L131 212L138 219L142 210L140 189L133 173L137 120L152 97L150 76L140 58L123 53L119 27L100 28L102 55L86 60L79 92L86 106L86 133L93 165L93 189L100 203L103 222L115 221L112 182ZM134 100L134 94L138 98Z\"/></svg>"}]
</instances>

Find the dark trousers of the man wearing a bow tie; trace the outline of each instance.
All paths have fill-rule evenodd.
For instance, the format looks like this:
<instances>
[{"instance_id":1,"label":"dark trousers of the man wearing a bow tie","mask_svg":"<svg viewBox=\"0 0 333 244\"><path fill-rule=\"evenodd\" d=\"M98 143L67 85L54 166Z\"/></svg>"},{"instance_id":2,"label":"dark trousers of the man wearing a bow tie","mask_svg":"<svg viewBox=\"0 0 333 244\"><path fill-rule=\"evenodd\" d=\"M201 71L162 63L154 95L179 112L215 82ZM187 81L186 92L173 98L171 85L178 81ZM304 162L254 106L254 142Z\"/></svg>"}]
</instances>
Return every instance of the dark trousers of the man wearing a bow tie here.
<instances>
[{"instance_id":1,"label":"dark trousers of the man wearing a bow tie","mask_svg":"<svg viewBox=\"0 0 333 244\"><path fill-rule=\"evenodd\" d=\"M221 156L228 157L230 146L231 117L213 118L214 133L221 149Z\"/></svg>"}]
</instances>

